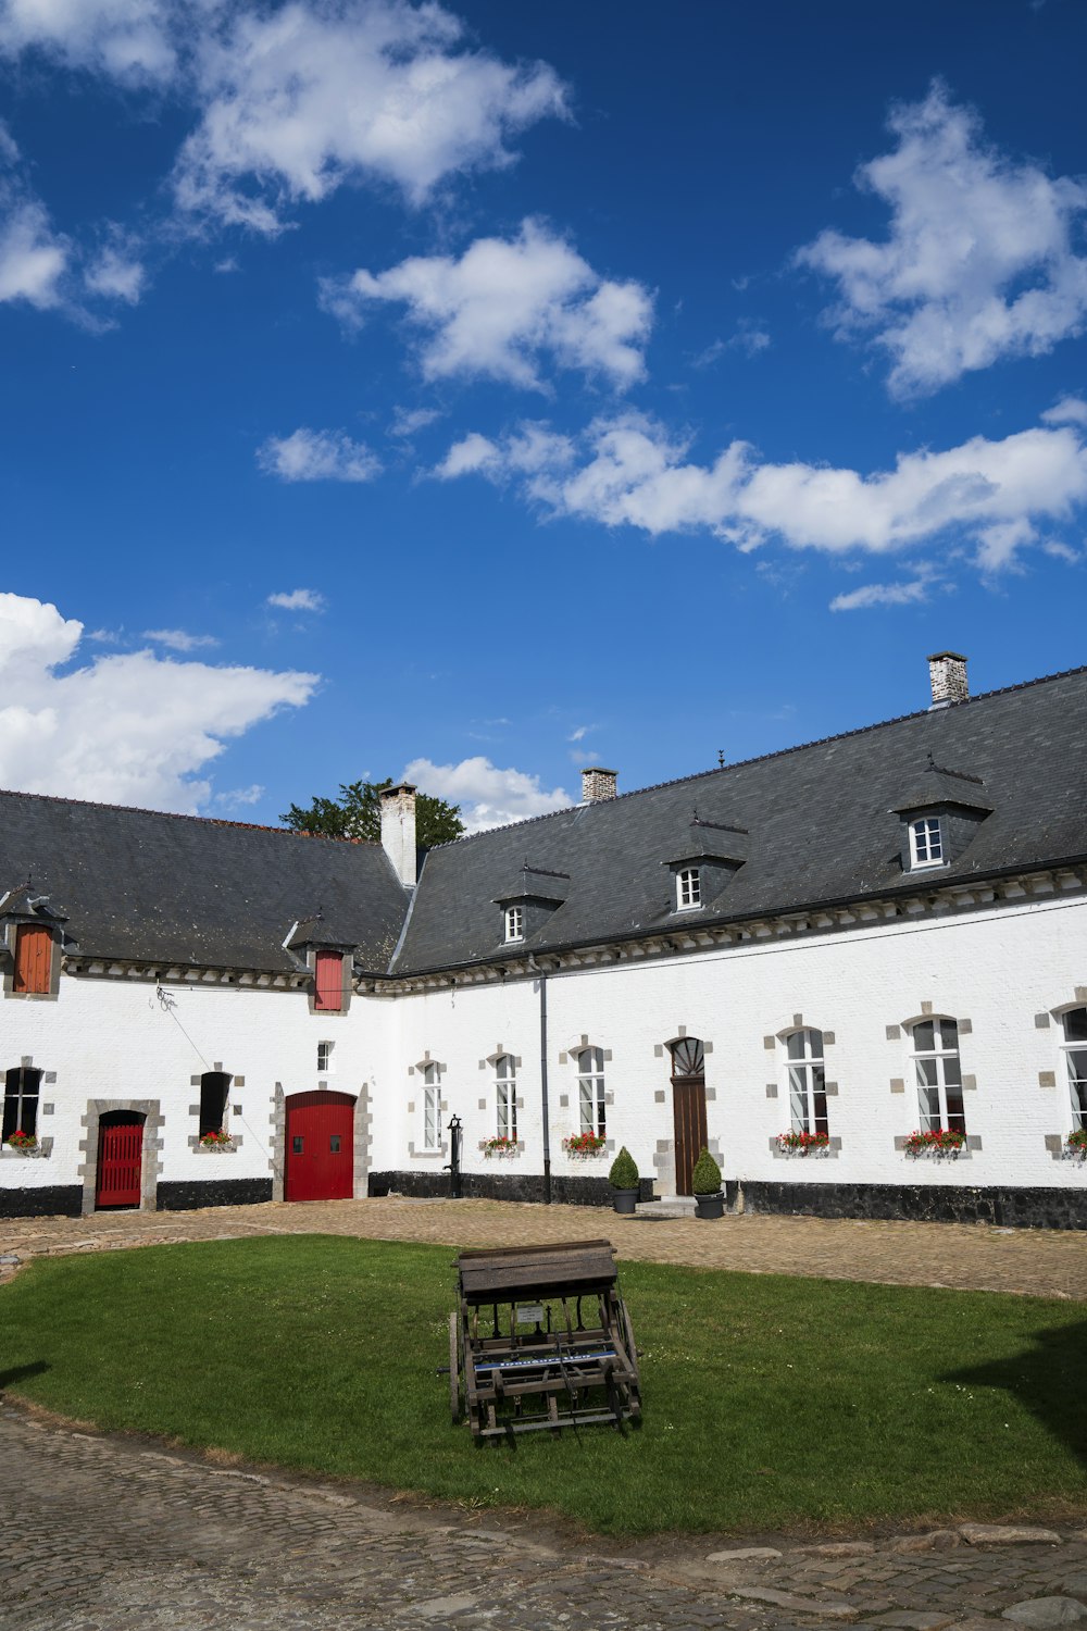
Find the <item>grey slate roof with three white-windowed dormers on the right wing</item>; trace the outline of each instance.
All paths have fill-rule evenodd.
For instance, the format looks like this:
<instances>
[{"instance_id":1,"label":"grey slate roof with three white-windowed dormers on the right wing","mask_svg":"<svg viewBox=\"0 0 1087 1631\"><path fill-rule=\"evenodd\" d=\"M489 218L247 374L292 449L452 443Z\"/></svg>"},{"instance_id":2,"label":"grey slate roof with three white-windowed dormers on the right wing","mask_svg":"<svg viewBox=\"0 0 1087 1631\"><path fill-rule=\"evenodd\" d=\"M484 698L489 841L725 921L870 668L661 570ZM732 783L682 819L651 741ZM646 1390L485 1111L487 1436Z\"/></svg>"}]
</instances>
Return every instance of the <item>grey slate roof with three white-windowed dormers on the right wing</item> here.
<instances>
[{"instance_id":1,"label":"grey slate roof with three white-windowed dormers on the right wing","mask_svg":"<svg viewBox=\"0 0 1087 1631\"><path fill-rule=\"evenodd\" d=\"M903 874L895 809L926 785L929 755L957 778L981 778L955 786L992 811L958 860L918 881ZM704 910L676 913L667 863L689 845L696 807L704 822L748 830L746 860ZM1087 669L432 850L393 972L500 961L494 902L526 856L570 874L526 951L1087 858Z\"/></svg>"}]
</instances>

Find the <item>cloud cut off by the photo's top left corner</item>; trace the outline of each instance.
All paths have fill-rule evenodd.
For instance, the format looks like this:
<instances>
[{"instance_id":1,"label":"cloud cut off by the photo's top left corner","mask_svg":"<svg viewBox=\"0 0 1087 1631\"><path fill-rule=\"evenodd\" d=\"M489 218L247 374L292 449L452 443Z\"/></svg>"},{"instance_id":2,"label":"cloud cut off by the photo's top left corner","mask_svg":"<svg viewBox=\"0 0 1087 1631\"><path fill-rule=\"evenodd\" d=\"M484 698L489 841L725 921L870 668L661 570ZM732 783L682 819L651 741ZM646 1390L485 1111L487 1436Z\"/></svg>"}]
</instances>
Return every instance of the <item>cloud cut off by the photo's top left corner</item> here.
<instances>
[{"instance_id":1,"label":"cloud cut off by the photo's top left corner","mask_svg":"<svg viewBox=\"0 0 1087 1631\"><path fill-rule=\"evenodd\" d=\"M0 52L28 47L122 82L168 80L168 0L0 0Z\"/></svg>"}]
</instances>

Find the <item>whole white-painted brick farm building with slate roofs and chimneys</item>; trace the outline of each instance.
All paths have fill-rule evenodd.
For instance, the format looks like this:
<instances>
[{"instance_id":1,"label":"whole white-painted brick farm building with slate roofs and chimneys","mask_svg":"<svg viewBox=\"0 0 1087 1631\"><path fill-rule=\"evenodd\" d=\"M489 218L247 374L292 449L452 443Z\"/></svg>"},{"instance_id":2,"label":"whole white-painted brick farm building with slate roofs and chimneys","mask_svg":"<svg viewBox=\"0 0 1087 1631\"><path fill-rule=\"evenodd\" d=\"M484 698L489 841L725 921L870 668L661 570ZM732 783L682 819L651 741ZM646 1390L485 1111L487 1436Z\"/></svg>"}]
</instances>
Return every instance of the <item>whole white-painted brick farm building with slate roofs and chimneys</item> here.
<instances>
[{"instance_id":1,"label":"whole white-painted brick farm building with slate roofs and chimneys","mask_svg":"<svg viewBox=\"0 0 1087 1631\"><path fill-rule=\"evenodd\" d=\"M0 1213L442 1194L456 1116L466 1194L707 1143L748 1209L1085 1227L1087 669L931 672L419 877L411 788L381 845L0 794Z\"/></svg>"}]
</instances>

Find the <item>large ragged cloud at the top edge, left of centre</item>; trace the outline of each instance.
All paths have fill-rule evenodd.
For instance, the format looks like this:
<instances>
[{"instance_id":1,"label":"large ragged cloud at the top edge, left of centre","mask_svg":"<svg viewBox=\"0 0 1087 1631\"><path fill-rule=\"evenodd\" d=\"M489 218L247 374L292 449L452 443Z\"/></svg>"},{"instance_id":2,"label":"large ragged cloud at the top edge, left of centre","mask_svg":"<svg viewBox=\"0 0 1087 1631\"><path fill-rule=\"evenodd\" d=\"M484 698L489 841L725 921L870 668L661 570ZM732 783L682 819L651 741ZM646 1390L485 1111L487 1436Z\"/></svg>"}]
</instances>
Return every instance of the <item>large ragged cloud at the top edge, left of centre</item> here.
<instances>
[{"instance_id":1,"label":"large ragged cloud at the top edge, left of centre","mask_svg":"<svg viewBox=\"0 0 1087 1631\"><path fill-rule=\"evenodd\" d=\"M257 232L344 183L391 183L422 204L453 173L513 163L512 137L566 113L546 64L468 49L437 3L293 0L227 13L196 49L204 116L178 202Z\"/></svg>"}]
</instances>

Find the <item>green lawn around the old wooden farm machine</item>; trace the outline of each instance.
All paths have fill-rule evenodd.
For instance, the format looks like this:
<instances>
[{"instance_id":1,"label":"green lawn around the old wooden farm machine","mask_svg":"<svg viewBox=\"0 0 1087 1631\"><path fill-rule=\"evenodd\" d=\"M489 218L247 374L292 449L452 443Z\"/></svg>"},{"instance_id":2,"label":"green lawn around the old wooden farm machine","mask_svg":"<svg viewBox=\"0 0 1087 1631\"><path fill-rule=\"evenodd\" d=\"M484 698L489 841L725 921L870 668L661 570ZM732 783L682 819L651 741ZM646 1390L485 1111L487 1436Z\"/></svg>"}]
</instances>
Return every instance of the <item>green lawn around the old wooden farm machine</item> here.
<instances>
[{"instance_id":1,"label":"green lawn around the old wooden farm machine","mask_svg":"<svg viewBox=\"0 0 1087 1631\"><path fill-rule=\"evenodd\" d=\"M1071 1512L1076 1303L627 1264L644 1424L476 1445L450 1425L450 1248L324 1236L34 1262L0 1386L111 1430L611 1533Z\"/></svg>"}]
</instances>

